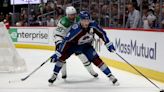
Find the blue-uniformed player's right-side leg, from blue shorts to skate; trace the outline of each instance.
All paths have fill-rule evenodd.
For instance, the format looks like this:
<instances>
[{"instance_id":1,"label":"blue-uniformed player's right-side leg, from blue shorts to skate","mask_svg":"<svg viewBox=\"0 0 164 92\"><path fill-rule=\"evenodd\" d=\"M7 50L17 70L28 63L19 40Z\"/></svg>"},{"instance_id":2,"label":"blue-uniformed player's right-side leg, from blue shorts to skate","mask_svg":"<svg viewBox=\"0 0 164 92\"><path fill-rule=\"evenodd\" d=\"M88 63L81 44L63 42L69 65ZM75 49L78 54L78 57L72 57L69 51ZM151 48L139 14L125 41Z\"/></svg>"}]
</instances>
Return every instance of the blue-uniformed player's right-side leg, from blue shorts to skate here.
<instances>
[{"instance_id":1,"label":"blue-uniformed player's right-side leg, from blue shorts to skate","mask_svg":"<svg viewBox=\"0 0 164 92\"><path fill-rule=\"evenodd\" d=\"M112 81L114 85L119 85L117 78L112 74L108 66L99 58L92 46L85 50L84 54L89 61L92 61Z\"/></svg>"}]
</instances>

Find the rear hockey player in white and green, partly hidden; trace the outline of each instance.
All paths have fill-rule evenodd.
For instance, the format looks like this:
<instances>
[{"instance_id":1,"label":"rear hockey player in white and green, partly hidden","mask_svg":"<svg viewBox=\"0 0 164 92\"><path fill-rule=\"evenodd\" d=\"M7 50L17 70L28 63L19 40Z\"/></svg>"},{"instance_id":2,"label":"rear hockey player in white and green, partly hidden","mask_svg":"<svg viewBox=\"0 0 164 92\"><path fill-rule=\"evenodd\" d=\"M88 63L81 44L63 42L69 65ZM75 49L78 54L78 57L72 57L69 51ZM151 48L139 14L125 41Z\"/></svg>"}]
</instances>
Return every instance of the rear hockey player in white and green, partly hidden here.
<instances>
[{"instance_id":1,"label":"rear hockey player in white and green, partly hidden","mask_svg":"<svg viewBox=\"0 0 164 92\"><path fill-rule=\"evenodd\" d=\"M58 49L59 44L63 41L63 38L66 36L68 33L68 28L72 26L74 23L79 22L80 18L79 16L76 16L76 9L73 6L69 6L66 8L66 15L62 17L58 24L57 24L57 29L54 31L54 40L55 40L55 45L56 49ZM93 39L93 37L92 37ZM91 62L88 61L86 56L82 53L75 53L79 59L82 61L84 64L85 68L88 70L88 72L94 76L97 77L98 74L93 70ZM51 59L51 62L54 62L53 59ZM66 72L66 62L64 61L64 65L62 68L62 78L65 79L67 77L67 72Z\"/></svg>"}]
</instances>

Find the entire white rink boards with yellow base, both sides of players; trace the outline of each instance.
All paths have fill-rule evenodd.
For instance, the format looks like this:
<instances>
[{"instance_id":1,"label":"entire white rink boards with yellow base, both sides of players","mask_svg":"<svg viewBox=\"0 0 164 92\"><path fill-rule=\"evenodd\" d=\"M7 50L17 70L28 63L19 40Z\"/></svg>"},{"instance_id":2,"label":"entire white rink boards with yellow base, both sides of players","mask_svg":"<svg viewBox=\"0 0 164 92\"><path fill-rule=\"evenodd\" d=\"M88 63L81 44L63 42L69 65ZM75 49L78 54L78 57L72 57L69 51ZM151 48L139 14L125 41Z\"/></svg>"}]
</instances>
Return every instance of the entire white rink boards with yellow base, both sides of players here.
<instances>
[{"instance_id":1,"label":"entire white rink boards with yellow base, both sides of players","mask_svg":"<svg viewBox=\"0 0 164 92\"><path fill-rule=\"evenodd\" d=\"M55 27L12 27L11 38L17 48L54 50ZM146 76L164 82L164 32L105 29L117 53ZM96 42L102 59L112 67L137 74L116 54L109 53L101 40Z\"/></svg>"}]
</instances>

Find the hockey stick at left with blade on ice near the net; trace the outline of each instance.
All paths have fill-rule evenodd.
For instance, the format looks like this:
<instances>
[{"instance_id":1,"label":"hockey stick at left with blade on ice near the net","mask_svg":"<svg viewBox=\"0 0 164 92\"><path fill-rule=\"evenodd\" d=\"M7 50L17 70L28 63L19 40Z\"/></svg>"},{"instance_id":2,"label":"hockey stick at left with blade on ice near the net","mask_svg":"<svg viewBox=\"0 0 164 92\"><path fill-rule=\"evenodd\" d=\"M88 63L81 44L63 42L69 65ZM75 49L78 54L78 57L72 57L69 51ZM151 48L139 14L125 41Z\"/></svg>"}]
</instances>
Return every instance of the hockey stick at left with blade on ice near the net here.
<instances>
[{"instance_id":1,"label":"hockey stick at left with blade on ice near the net","mask_svg":"<svg viewBox=\"0 0 164 92\"><path fill-rule=\"evenodd\" d=\"M21 78L21 79L17 79L17 80L9 80L9 83L15 83L15 82L21 82L21 81L25 81L26 79L28 79L33 73L35 73L39 68L41 68L45 63L47 63L51 58L48 58L46 61L44 61L40 66L38 66L35 70L33 70L30 74L28 74L26 77Z\"/></svg>"}]
</instances>

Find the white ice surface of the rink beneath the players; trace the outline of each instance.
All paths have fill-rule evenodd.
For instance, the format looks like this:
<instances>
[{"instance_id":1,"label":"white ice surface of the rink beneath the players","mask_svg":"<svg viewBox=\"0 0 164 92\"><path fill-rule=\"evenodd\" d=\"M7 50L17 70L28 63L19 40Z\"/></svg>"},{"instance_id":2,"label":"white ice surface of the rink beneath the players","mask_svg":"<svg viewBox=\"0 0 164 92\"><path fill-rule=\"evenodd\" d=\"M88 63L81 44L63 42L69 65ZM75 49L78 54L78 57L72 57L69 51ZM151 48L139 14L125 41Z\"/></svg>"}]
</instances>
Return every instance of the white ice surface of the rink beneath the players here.
<instances>
[{"instance_id":1,"label":"white ice surface of the rink beneath the players","mask_svg":"<svg viewBox=\"0 0 164 92\"><path fill-rule=\"evenodd\" d=\"M118 78L120 86L112 86L109 79L95 66L94 69L99 77L93 78L74 55L67 60L68 77L66 80L63 80L59 73L54 84L48 86L48 79L51 77L54 67L54 63L48 62L27 80L9 83L9 80L24 78L54 53L53 51L32 49L17 49L17 51L25 59L28 71L25 73L0 73L0 92L159 92L143 77L112 67L110 69ZM163 83L152 81L160 88L164 88Z\"/></svg>"}]
</instances>

